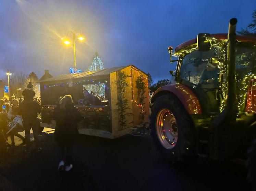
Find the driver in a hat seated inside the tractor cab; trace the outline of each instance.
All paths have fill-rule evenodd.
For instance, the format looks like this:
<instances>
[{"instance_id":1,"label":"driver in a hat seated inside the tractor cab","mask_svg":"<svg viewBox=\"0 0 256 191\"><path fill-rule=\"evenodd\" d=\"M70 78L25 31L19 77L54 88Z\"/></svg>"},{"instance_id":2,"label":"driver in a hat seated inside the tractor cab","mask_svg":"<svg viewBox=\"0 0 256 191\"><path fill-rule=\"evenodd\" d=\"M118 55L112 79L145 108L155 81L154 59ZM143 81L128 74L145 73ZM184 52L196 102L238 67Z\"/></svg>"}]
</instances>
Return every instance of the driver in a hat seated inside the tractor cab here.
<instances>
[{"instance_id":1,"label":"driver in a hat seated inside the tractor cab","mask_svg":"<svg viewBox=\"0 0 256 191\"><path fill-rule=\"evenodd\" d=\"M199 84L215 84L218 85L219 69L218 58L210 58L209 62L204 69L202 76L199 80Z\"/></svg>"}]
</instances>

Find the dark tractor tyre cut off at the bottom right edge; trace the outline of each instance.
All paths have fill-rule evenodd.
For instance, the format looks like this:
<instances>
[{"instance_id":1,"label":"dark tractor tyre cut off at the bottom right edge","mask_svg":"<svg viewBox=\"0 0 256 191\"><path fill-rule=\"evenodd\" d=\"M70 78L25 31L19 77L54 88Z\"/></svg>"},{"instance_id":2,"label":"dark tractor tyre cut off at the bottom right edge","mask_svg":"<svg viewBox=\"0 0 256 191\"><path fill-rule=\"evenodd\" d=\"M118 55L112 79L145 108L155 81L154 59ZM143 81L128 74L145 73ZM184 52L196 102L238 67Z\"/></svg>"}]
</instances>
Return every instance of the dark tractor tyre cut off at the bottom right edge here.
<instances>
[{"instance_id":1,"label":"dark tractor tyre cut off at the bottom right edge","mask_svg":"<svg viewBox=\"0 0 256 191\"><path fill-rule=\"evenodd\" d=\"M247 179L251 182L253 190L256 191L256 140L253 142L251 148L249 148L247 155Z\"/></svg>"}]
</instances>

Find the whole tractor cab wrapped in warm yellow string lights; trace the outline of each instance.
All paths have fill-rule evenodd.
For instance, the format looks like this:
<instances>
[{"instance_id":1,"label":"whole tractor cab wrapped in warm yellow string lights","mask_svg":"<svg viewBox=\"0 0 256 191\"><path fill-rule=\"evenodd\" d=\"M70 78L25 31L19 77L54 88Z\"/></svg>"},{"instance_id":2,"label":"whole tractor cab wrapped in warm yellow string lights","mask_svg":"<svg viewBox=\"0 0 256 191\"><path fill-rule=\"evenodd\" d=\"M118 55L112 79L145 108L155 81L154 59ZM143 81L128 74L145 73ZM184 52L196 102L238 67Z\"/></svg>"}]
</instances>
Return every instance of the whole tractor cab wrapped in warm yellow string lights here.
<instances>
[{"instance_id":1,"label":"whole tractor cab wrapped in warm yellow string lights","mask_svg":"<svg viewBox=\"0 0 256 191\"><path fill-rule=\"evenodd\" d=\"M236 36L235 66L238 102L245 106L243 96L246 77L256 74L256 39ZM171 56L178 57L175 80L190 88L198 98L205 115L218 115L227 95L227 34L208 35L209 48L199 50L198 39L187 41ZM249 82L247 82L249 83ZM244 108L240 108L241 111Z\"/></svg>"}]
</instances>

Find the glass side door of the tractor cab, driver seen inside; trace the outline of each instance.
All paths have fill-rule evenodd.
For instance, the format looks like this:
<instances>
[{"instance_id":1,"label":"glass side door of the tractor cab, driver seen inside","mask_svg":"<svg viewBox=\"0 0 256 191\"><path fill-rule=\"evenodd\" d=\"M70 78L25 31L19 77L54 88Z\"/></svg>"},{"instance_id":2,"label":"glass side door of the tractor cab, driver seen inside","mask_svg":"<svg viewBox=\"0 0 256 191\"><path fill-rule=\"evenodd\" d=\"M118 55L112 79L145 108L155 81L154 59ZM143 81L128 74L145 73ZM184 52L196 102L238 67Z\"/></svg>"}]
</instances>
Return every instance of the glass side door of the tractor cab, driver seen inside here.
<instances>
[{"instance_id":1,"label":"glass side door of the tractor cab, driver seen inside","mask_svg":"<svg viewBox=\"0 0 256 191\"><path fill-rule=\"evenodd\" d=\"M176 71L176 81L192 89L202 103L201 106L208 103L206 107L202 107L206 114L219 112L221 96L218 83L218 57L220 57L220 49L216 46L205 52L194 50L180 56Z\"/></svg>"}]
</instances>

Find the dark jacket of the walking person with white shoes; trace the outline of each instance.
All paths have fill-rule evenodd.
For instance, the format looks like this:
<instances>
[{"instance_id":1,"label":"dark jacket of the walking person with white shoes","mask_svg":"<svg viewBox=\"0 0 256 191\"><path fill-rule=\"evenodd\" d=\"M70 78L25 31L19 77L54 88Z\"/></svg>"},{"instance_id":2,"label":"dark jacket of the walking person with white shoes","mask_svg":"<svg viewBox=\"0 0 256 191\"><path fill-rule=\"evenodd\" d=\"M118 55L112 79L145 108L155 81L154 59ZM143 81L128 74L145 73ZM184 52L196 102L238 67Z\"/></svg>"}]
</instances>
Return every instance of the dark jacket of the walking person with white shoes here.
<instances>
[{"instance_id":1,"label":"dark jacket of the walking person with white shoes","mask_svg":"<svg viewBox=\"0 0 256 191\"><path fill-rule=\"evenodd\" d=\"M58 105L53 111L53 120L56 121L55 139L57 142L74 141L78 134L77 122L82 120L81 114L78 112L74 104L67 105L62 109Z\"/></svg>"}]
</instances>

